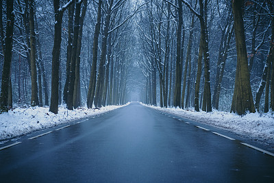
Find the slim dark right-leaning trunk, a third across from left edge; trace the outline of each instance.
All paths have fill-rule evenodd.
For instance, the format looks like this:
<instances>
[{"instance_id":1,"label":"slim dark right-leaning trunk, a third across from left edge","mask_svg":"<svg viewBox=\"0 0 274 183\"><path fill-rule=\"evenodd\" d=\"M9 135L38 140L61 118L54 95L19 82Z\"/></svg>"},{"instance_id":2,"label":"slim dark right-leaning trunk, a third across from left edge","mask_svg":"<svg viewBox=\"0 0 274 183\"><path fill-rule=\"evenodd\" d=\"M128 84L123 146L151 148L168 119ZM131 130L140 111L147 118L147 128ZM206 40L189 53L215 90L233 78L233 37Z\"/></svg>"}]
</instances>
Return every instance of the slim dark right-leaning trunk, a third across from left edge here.
<instances>
[{"instance_id":1,"label":"slim dark right-leaning trunk, a third across from left edge","mask_svg":"<svg viewBox=\"0 0 274 183\"><path fill-rule=\"evenodd\" d=\"M97 23L95 25L95 34L94 34L94 38L93 38L93 47L92 47L92 66L91 66L91 72L90 72L90 83L88 86L88 96L87 96L87 101L86 101L88 108L92 108L92 103L93 103L93 99L95 96L98 38L99 38L100 27L101 27L101 5L102 5L102 0L99 0Z\"/></svg>"}]
</instances>

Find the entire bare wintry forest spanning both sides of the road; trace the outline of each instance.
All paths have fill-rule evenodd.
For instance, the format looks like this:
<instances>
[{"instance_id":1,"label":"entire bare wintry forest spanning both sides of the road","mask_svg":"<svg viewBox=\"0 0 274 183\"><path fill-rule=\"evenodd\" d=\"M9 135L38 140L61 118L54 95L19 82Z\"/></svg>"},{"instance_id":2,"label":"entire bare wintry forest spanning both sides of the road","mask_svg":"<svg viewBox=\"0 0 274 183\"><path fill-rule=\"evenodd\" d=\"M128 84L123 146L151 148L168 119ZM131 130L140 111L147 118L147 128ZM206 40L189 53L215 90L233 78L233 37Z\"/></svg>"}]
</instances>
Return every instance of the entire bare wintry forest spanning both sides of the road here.
<instances>
[{"instance_id":1,"label":"entire bare wintry forest spanning both sides of the road","mask_svg":"<svg viewBox=\"0 0 274 183\"><path fill-rule=\"evenodd\" d=\"M274 110L273 0L0 0L0 113Z\"/></svg>"}]
</instances>

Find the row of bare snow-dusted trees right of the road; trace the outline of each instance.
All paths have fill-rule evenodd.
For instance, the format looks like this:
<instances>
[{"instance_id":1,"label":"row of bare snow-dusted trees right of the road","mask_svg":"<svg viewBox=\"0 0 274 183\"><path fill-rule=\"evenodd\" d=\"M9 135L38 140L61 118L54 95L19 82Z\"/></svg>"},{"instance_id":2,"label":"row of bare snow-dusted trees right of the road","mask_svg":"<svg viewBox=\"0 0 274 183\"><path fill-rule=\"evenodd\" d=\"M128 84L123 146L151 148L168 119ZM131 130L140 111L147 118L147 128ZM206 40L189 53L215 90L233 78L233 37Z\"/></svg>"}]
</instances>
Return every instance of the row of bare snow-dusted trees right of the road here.
<instances>
[{"instance_id":1,"label":"row of bare snow-dusted trees right of the road","mask_svg":"<svg viewBox=\"0 0 274 183\"><path fill-rule=\"evenodd\" d=\"M165 108L274 109L273 1L146 2L137 25L142 101L156 105L158 91Z\"/></svg>"}]
</instances>

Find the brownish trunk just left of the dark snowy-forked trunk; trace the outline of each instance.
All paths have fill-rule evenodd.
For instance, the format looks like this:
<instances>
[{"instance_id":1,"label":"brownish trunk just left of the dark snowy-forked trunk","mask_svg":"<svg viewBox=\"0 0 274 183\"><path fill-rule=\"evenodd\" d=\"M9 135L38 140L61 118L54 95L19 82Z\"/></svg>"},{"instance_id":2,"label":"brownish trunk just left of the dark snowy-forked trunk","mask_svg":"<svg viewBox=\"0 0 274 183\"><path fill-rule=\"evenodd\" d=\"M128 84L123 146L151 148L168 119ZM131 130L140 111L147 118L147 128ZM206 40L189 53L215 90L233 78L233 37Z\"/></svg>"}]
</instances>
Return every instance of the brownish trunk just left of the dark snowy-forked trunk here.
<instances>
[{"instance_id":1,"label":"brownish trunk just left of the dark snowy-forked trunk","mask_svg":"<svg viewBox=\"0 0 274 183\"><path fill-rule=\"evenodd\" d=\"M38 106L38 86L36 71L36 34L34 32L34 0L29 1L29 40L30 40L30 63L32 69L32 99L31 105Z\"/></svg>"}]
</instances>

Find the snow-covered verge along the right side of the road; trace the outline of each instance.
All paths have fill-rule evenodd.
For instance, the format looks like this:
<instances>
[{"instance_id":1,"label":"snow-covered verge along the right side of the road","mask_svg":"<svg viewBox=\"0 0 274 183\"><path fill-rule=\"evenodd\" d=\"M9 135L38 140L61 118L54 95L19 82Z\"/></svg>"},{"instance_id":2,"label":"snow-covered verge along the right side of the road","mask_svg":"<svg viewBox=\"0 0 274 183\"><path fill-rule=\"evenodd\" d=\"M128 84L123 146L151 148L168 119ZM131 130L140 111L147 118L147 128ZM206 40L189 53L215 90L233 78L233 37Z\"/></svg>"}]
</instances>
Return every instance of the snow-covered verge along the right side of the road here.
<instances>
[{"instance_id":1,"label":"snow-covered verge along the right side of the road","mask_svg":"<svg viewBox=\"0 0 274 183\"><path fill-rule=\"evenodd\" d=\"M274 114L271 114L271 112L264 114L256 112L240 117L234 113L216 110L207 113L182 110L180 108L148 107L169 112L170 114L175 114L179 117L191 119L200 123L206 123L236 134L248 136L253 140L268 143L271 146L274 145Z\"/></svg>"}]
</instances>

